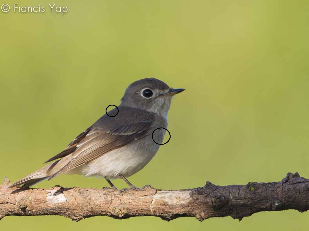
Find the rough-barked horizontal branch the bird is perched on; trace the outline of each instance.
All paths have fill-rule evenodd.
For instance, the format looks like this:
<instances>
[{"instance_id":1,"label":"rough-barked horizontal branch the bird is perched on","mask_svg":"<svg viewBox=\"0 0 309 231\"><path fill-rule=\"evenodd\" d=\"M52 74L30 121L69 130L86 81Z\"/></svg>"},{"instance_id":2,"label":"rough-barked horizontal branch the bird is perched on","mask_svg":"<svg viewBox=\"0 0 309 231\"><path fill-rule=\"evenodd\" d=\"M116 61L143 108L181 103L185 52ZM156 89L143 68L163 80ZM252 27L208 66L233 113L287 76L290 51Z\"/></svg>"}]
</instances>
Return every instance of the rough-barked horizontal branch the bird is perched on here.
<instances>
[{"instance_id":1,"label":"rough-barked horizontal branch the bird is perched on","mask_svg":"<svg viewBox=\"0 0 309 231\"><path fill-rule=\"evenodd\" d=\"M0 185L0 219L5 216L61 215L73 221L86 217L109 216L125 219L155 216L170 221L177 217L231 216L241 220L260 211L309 209L309 180L296 172L280 182L161 190L149 185L131 190L96 188L9 188Z\"/></svg>"}]
</instances>

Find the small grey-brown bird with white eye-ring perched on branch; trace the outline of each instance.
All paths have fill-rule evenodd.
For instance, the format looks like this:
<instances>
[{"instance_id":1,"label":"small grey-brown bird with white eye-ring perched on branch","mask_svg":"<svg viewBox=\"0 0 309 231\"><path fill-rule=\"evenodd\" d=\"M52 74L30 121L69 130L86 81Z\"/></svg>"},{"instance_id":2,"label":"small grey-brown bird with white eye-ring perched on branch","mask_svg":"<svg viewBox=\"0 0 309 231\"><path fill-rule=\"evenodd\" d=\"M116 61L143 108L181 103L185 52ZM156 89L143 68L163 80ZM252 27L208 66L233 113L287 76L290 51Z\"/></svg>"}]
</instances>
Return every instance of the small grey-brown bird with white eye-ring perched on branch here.
<instances>
[{"instance_id":1,"label":"small grey-brown bird with white eye-ring perched on branch","mask_svg":"<svg viewBox=\"0 0 309 231\"><path fill-rule=\"evenodd\" d=\"M125 90L121 103L106 110L94 124L80 133L68 146L51 157L37 171L10 187L28 188L60 174L97 176L107 180L126 178L140 171L157 153L167 128L171 100L184 88L171 88L156 78L140 79ZM158 129L164 128L164 129Z\"/></svg>"}]
</instances>

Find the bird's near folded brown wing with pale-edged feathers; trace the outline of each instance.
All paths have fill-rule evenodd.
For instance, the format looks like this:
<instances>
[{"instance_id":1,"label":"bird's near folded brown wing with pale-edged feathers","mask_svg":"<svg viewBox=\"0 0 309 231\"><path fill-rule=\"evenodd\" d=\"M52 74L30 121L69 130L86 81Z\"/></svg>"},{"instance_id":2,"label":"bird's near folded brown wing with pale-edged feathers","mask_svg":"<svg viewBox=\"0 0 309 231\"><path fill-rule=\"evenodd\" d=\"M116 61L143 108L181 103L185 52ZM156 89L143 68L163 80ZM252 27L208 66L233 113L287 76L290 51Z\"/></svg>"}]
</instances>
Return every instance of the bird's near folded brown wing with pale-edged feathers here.
<instances>
[{"instance_id":1,"label":"bird's near folded brown wing with pale-edged feathers","mask_svg":"<svg viewBox=\"0 0 309 231\"><path fill-rule=\"evenodd\" d=\"M152 132L151 124L153 121L154 118L150 116L136 123L121 124L109 130L90 130L82 140L74 144L76 149L72 154L72 160L51 176L49 180L61 173L91 162L107 152L141 139Z\"/></svg>"}]
</instances>

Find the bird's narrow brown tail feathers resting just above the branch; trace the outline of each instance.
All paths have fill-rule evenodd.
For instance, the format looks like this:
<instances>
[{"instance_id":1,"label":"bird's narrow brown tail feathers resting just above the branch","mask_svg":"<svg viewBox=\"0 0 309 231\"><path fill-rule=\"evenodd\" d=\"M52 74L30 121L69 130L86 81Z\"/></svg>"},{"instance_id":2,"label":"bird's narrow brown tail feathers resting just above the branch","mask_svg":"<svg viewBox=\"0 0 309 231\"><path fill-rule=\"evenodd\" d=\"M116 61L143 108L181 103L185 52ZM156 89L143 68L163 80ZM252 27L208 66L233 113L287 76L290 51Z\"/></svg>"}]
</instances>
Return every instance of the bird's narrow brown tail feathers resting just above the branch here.
<instances>
[{"instance_id":1,"label":"bird's narrow brown tail feathers resting just above the branch","mask_svg":"<svg viewBox=\"0 0 309 231\"><path fill-rule=\"evenodd\" d=\"M36 172L33 172L29 174L28 176L25 176L24 178L16 181L14 184L12 184L10 187L15 187L18 185L23 184L23 187L29 187L31 185L37 184L43 180L48 179L53 175L53 168L54 166L59 162L59 160L48 164L44 166L43 168L40 168Z\"/></svg>"}]
</instances>

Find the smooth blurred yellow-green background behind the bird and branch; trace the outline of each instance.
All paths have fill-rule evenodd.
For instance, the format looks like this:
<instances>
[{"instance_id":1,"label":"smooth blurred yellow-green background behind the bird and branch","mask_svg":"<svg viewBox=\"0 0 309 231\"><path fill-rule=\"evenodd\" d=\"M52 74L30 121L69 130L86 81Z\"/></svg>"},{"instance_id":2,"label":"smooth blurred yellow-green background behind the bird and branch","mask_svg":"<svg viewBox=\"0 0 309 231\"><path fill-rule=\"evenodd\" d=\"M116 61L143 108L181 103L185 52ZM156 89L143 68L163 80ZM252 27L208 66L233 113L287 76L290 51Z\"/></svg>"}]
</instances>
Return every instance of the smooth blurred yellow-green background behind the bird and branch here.
<instances>
[{"instance_id":1,"label":"smooth blurred yellow-green background behind the bird and branch","mask_svg":"<svg viewBox=\"0 0 309 231\"><path fill-rule=\"evenodd\" d=\"M129 178L136 186L269 182L296 171L309 178L308 1L55 2L69 8L65 15L48 3L19 2L45 6L43 14L0 12L0 177L15 181L40 168L119 104L130 83L156 77L187 91L173 100L170 142ZM107 186L61 175L37 187L55 184ZM5 217L0 228L308 230L308 217Z\"/></svg>"}]
</instances>

